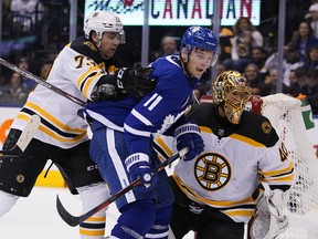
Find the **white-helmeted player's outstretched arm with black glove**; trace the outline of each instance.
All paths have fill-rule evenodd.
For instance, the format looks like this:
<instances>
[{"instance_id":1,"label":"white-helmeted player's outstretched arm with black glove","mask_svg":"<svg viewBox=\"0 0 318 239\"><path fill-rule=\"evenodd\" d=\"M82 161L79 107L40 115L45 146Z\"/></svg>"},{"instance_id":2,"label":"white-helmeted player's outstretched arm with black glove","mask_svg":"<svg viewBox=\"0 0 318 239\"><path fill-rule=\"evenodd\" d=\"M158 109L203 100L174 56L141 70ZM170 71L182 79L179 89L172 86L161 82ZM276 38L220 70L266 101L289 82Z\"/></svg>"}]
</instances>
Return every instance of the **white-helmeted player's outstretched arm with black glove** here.
<instances>
[{"instance_id":1,"label":"white-helmeted player's outstretched arm with black glove","mask_svg":"<svg viewBox=\"0 0 318 239\"><path fill-rule=\"evenodd\" d=\"M123 67L109 75L105 72L104 62L97 64L93 59L65 49L59 55L62 77L72 79L84 97L89 101L120 100L128 94L142 97L156 87L151 79L151 67Z\"/></svg>"}]
</instances>

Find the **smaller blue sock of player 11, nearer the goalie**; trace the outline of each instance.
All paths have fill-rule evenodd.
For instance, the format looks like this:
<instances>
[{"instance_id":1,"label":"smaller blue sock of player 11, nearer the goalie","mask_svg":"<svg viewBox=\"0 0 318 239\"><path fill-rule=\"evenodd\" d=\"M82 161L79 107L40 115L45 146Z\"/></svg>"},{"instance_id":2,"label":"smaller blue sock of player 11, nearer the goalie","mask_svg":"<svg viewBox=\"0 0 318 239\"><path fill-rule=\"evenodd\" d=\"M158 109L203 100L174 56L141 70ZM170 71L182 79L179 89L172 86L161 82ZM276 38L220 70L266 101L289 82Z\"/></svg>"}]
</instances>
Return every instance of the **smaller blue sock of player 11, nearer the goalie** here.
<instances>
[{"instance_id":1,"label":"smaller blue sock of player 11, nearer the goalie","mask_svg":"<svg viewBox=\"0 0 318 239\"><path fill-rule=\"evenodd\" d=\"M168 239L169 222L171 219L173 206L168 205L163 208L156 209L156 220L151 229L147 232L146 238Z\"/></svg>"}]
</instances>

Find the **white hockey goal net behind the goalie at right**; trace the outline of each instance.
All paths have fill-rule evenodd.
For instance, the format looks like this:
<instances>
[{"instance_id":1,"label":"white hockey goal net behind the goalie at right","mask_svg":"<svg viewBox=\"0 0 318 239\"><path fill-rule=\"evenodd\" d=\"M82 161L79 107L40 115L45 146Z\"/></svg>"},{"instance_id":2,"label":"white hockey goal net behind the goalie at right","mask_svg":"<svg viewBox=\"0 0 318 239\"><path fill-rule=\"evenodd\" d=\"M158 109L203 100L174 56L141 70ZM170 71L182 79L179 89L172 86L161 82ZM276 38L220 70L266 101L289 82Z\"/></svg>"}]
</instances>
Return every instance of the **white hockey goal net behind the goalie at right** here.
<instances>
[{"instance_id":1,"label":"white hockey goal net behind the goalie at right","mask_svg":"<svg viewBox=\"0 0 318 239\"><path fill-rule=\"evenodd\" d=\"M294 162L294 183L286 193L285 212L288 229L278 238L318 238L318 159L310 143L300 108L300 101L284 94L262 97L266 116Z\"/></svg>"}]
</instances>

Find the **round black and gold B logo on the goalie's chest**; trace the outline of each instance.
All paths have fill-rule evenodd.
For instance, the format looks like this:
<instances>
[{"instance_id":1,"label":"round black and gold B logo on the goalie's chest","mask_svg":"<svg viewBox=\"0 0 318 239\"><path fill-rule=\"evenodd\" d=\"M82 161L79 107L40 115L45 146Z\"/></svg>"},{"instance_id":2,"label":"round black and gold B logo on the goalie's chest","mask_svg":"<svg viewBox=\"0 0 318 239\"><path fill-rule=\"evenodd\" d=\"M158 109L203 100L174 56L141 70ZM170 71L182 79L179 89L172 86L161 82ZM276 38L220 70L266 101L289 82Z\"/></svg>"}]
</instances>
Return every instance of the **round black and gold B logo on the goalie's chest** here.
<instances>
[{"instance_id":1,"label":"round black and gold B logo on the goalie's chest","mask_svg":"<svg viewBox=\"0 0 318 239\"><path fill-rule=\"evenodd\" d=\"M231 166L220 154L209 153L200 156L194 168L195 178L205 190L219 190L231 178Z\"/></svg>"}]
</instances>

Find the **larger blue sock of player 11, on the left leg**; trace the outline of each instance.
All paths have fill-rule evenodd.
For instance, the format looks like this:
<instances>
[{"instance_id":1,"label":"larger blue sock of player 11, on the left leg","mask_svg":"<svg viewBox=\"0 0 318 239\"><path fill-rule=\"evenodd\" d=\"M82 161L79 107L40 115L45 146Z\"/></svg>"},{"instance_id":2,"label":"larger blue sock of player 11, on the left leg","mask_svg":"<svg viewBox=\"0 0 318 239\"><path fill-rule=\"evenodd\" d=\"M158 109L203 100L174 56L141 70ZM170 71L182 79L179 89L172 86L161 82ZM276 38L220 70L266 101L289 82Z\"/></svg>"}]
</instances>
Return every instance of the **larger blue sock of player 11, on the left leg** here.
<instances>
[{"instance_id":1,"label":"larger blue sock of player 11, on the left leg","mask_svg":"<svg viewBox=\"0 0 318 239\"><path fill-rule=\"evenodd\" d=\"M120 239L144 238L155 222L151 199L138 200L124 207L112 236ZM112 238L112 237L110 237Z\"/></svg>"}]
</instances>

